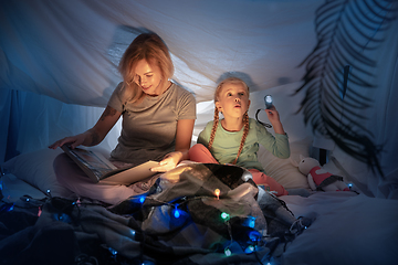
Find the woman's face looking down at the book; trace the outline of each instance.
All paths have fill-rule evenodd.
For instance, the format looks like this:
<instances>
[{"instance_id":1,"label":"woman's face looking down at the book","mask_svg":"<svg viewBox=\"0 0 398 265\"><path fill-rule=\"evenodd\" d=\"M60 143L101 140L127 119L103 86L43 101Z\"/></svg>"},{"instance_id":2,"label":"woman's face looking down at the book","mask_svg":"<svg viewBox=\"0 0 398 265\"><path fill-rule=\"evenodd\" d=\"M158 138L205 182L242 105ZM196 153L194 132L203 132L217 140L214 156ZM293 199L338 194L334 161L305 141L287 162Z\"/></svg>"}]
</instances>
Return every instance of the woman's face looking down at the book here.
<instances>
[{"instance_id":1,"label":"woman's face looking down at the book","mask_svg":"<svg viewBox=\"0 0 398 265\"><path fill-rule=\"evenodd\" d=\"M150 96L164 93L161 85L161 71L157 65L150 65L146 60L138 61L135 67L134 82Z\"/></svg>"}]
</instances>

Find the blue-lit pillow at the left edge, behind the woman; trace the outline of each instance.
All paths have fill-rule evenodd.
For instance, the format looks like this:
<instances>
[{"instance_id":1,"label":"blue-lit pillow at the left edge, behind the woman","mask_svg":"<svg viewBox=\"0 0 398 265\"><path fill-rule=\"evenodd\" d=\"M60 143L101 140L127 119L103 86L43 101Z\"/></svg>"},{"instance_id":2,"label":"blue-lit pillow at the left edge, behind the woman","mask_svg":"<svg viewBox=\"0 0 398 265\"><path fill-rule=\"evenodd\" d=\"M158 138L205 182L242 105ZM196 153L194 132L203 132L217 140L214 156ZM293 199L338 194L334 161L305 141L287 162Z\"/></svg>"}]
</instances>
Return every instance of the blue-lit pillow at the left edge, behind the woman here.
<instances>
[{"instance_id":1,"label":"blue-lit pillow at the left edge, behind the woman","mask_svg":"<svg viewBox=\"0 0 398 265\"><path fill-rule=\"evenodd\" d=\"M44 193L50 190L53 197L69 197L72 192L57 182L53 169L53 161L61 152L60 148L56 150L45 148L21 153L1 166L18 179L28 182Z\"/></svg>"}]
</instances>

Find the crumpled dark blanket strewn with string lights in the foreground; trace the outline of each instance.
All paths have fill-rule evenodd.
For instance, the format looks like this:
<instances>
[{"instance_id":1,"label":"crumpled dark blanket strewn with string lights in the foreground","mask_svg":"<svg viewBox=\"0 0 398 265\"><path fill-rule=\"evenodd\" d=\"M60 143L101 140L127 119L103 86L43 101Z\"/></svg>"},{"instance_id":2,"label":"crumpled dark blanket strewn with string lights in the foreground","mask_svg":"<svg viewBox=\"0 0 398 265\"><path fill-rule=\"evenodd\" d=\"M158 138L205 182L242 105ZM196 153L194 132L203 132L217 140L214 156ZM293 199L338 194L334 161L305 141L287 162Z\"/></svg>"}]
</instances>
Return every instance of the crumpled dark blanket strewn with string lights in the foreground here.
<instances>
[{"instance_id":1,"label":"crumpled dark blanket strewn with string lights in the foreground","mask_svg":"<svg viewBox=\"0 0 398 265\"><path fill-rule=\"evenodd\" d=\"M2 264L259 264L310 224L259 192L247 170L189 163L116 205L29 195L3 203L0 256Z\"/></svg>"}]
</instances>

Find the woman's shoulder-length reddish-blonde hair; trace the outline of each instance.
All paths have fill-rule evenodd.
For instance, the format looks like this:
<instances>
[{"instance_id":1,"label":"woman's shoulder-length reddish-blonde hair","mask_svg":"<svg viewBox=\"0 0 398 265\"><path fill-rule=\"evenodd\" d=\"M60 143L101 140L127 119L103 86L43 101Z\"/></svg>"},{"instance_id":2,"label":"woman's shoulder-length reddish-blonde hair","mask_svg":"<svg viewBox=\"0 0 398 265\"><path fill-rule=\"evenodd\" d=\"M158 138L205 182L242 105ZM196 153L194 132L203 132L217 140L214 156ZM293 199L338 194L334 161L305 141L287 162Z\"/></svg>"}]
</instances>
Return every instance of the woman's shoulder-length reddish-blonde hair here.
<instances>
[{"instance_id":1,"label":"woman's shoulder-length reddish-blonde hair","mask_svg":"<svg viewBox=\"0 0 398 265\"><path fill-rule=\"evenodd\" d=\"M142 60L147 61L151 66L156 65L160 68L161 85L171 78L174 74L170 53L160 36L155 33L138 35L126 49L118 65L127 98L133 103L144 95L143 89L134 82L135 66Z\"/></svg>"}]
</instances>

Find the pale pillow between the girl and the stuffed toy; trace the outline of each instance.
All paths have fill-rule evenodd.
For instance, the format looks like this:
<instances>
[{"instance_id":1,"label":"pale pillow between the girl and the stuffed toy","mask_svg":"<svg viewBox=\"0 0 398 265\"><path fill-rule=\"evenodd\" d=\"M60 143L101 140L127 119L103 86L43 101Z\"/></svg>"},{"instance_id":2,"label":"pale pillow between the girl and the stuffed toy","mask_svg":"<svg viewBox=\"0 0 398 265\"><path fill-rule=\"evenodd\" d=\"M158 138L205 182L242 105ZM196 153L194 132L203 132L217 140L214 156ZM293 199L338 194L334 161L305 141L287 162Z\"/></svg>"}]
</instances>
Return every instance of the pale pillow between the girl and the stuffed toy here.
<instances>
[{"instance_id":1,"label":"pale pillow between the girl and the stuffed toy","mask_svg":"<svg viewBox=\"0 0 398 265\"><path fill-rule=\"evenodd\" d=\"M298 162L300 155L308 157L311 145L312 139L308 137L290 142L291 157L289 159L277 158L260 145L259 161L264 167L265 173L285 189L310 189L306 176L302 174L291 160Z\"/></svg>"}]
</instances>

